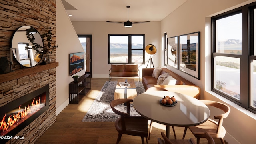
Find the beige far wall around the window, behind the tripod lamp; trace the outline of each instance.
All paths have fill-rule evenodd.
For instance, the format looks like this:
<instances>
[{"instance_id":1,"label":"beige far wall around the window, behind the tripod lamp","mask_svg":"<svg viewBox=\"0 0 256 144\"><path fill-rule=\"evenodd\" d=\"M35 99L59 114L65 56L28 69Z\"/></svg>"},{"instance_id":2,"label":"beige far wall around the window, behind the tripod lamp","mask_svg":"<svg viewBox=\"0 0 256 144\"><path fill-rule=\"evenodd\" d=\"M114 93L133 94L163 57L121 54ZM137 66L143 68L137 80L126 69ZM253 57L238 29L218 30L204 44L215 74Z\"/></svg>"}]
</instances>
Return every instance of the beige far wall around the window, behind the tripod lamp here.
<instances>
[{"instance_id":1,"label":"beige far wall around the window, behind the tripod lamp","mask_svg":"<svg viewBox=\"0 0 256 144\"><path fill-rule=\"evenodd\" d=\"M153 56L154 67L160 66L160 22L133 24L132 28L125 28L123 24L106 23L102 21L72 22L77 34L92 34L92 77L108 77L108 34L145 34L145 46L154 44L158 52ZM145 57L145 65L149 56ZM150 64L149 66L150 67Z\"/></svg>"}]
</instances>

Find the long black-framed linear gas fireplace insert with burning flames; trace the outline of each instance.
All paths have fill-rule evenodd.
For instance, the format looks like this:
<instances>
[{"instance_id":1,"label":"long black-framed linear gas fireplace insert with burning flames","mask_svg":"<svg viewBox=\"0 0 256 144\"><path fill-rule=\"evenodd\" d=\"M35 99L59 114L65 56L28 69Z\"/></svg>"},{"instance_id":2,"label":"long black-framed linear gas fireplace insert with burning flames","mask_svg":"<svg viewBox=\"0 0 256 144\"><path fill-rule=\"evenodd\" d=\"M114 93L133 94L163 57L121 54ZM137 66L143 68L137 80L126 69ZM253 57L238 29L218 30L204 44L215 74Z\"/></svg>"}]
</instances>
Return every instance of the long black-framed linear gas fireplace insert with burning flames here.
<instances>
[{"instance_id":1,"label":"long black-framed linear gas fireplace insert with burning flames","mask_svg":"<svg viewBox=\"0 0 256 144\"><path fill-rule=\"evenodd\" d=\"M0 107L0 143L8 141L49 109L49 85ZM6 138L4 138L4 137Z\"/></svg>"}]
</instances>

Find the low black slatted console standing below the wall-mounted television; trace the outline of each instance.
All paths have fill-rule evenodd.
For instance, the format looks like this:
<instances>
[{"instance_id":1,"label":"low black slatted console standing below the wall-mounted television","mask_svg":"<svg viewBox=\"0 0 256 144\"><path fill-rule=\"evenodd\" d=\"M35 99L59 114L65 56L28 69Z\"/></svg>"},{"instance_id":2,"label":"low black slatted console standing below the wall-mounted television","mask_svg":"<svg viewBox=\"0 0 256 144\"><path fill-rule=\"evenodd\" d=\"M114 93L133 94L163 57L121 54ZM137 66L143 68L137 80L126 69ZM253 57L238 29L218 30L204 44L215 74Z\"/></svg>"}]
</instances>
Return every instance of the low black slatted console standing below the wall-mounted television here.
<instances>
[{"instance_id":1,"label":"low black slatted console standing below the wall-mounted television","mask_svg":"<svg viewBox=\"0 0 256 144\"><path fill-rule=\"evenodd\" d=\"M91 89L91 76L84 74L78 78L78 82L71 82L69 84L69 103L78 104L78 102Z\"/></svg>"}]
</instances>

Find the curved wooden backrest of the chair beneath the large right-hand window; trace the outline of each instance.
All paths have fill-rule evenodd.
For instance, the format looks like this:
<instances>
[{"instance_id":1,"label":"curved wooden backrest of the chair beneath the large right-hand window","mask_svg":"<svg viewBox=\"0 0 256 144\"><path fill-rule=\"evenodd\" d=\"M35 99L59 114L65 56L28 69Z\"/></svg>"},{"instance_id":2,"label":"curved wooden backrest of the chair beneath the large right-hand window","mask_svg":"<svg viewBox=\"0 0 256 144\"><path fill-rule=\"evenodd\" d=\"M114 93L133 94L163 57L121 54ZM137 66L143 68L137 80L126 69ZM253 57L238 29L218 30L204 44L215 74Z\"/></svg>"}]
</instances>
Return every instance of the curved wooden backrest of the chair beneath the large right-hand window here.
<instances>
[{"instance_id":1,"label":"curved wooden backrest of the chair beneath the large right-hand window","mask_svg":"<svg viewBox=\"0 0 256 144\"><path fill-rule=\"evenodd\" d=\"M224 111L224 114L214 116L215 119L219 119L218 128L216 130L216 133L218 134L218 132L221 131L223 119L228 117L228 114L230 113L230 107L226 104L222 104L220 102L215 102L215 101L211 101L211 100L201 100L201 101L208 106L214 106L214 107L219 108L220 110Z\"/></svg>"}]
</instances>

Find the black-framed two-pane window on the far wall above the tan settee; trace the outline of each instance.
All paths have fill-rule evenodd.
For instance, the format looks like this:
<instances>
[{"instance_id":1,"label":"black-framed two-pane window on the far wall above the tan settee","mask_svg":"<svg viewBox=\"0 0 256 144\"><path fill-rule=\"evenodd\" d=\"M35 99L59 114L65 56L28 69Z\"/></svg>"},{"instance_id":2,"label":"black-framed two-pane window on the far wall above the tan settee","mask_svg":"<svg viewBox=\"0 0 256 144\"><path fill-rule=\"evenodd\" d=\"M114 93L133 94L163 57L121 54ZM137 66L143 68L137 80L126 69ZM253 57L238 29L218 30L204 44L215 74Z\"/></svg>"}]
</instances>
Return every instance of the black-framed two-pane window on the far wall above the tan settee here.
<instances>
[{"instance_id":1,"label":"black-framed two-pane window on the far wall above the tan settee","mask_svg":"<svg viewBox=\"0 0 256 144\"><path fill-rule=\"evenodd\" d=\"M144 64L144 34L108 35L108 64Z\"/></svg>"}]
</instances>

